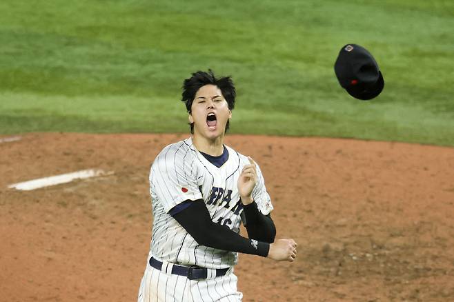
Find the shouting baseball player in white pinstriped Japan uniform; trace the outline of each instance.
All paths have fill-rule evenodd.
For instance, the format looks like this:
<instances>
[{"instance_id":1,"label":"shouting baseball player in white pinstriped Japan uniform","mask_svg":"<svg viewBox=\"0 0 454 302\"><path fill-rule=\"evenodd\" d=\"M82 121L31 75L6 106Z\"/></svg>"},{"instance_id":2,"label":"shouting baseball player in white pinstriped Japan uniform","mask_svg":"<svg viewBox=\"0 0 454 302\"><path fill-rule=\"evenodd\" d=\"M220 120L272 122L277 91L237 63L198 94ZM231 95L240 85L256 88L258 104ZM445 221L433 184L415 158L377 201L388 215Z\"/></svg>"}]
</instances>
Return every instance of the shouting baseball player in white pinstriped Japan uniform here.
<instances>
[{"instance_id":1,"label":"shouting baseball player in white pinstriped Japan uniform","mask_svg":"<svg viewBox=\"0 0 454 302\"><path fill-rule=\"evenodd\" d=\"M259 166L224 145L236 96L230 77L195 72L183 90L192 135L152 163L152 239L138 301L241 301L238 253L291 262L297 243L275 241Z\"/></svg>"}]
</instances>

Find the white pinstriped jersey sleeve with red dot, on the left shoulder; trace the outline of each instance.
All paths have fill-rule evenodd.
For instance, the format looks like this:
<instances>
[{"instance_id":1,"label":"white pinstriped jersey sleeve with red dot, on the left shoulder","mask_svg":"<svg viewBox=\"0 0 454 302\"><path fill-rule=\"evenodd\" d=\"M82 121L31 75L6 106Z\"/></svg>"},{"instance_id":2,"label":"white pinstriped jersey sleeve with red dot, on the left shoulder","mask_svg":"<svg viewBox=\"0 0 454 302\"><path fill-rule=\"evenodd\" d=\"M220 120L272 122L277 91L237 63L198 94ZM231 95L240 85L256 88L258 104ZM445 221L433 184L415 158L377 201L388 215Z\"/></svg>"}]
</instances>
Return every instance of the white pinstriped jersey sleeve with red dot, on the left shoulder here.
<instances>
[{"instance_id":1,"label":"white pinstriped jersey sleeve with red dot, on the left shoulder","mask_svg":"<svg viewBox=\"0 0 454 302\"><path fill-rule=\"evenodd\" d=\"M157 156L150 170L150 193L166 212L186 200L201 199L192 150L170 145Z\"/></svg>"}]
</instances>

